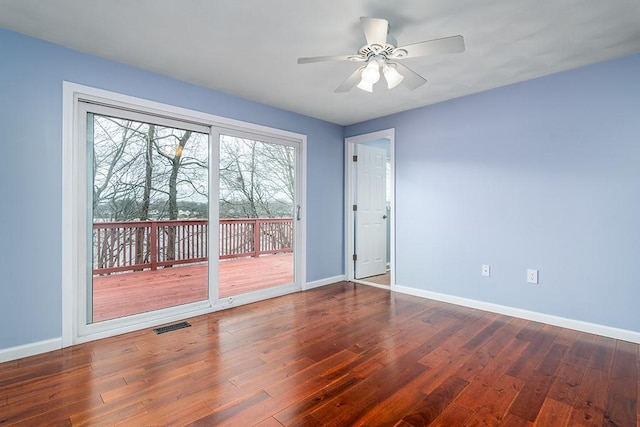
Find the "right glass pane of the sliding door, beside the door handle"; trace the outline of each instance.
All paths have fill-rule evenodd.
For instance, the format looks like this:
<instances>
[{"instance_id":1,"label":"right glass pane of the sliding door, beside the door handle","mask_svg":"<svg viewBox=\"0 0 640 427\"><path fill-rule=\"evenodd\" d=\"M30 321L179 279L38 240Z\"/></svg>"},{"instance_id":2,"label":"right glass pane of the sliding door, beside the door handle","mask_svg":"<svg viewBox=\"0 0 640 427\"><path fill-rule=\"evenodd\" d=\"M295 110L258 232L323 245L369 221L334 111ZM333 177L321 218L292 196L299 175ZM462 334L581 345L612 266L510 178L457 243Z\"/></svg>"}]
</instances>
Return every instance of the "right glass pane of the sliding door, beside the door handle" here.
<instances>
[{"instance_id":1,"label":"right glass pane of the sliding door, beside the door handle","mask_svg":"<svg viewBox=\"0 0 640 427\"><path fill-rule=\"evenodd\" d=\"M220 298L294 283L295 153L221 135Z\"/></svg>"}]
</instances>

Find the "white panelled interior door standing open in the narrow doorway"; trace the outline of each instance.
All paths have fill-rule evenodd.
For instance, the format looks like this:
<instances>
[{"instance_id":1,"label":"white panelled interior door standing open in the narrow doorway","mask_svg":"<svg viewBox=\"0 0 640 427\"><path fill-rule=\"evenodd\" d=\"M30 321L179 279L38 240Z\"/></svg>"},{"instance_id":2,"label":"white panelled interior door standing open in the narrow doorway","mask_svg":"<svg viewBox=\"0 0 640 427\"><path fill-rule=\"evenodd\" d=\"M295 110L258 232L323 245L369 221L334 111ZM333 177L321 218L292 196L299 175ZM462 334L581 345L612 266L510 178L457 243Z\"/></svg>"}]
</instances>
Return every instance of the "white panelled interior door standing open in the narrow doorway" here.
<instances>
[{"instance_id":1,"label":"white panelled interior door standing open in the narrow doorway","mask_svg":"<svg viewBox=\"0 0 640 427\"><path fill-rule=\"evenodd\" d=\"M387 153L357 146L355 278L384 274L387 266Z\"/></svg>"}]
</instances>

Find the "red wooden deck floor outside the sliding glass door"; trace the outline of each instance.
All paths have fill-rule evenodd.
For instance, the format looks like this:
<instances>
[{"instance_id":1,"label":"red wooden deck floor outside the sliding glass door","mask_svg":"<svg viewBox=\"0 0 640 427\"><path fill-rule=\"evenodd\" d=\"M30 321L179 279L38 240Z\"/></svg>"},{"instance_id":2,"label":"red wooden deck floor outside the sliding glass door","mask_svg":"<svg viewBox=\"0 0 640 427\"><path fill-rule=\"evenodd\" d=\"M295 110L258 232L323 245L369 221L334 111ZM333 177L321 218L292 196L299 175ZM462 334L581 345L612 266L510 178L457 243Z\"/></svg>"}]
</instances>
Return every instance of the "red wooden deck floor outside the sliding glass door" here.
<instances>
[{"instance_id":1,"label":"red wooden deck floor outside the sliding glass door","mask_svg":"<svg viewBox=\"0 0 640 427\"><path fill-rule=\"evenodd\" d=\"M220 261L221 298L292 282L291 253ZM207 264L97 276L93 285L99 322L206 299Z\"/></svg>"}]
</instances>

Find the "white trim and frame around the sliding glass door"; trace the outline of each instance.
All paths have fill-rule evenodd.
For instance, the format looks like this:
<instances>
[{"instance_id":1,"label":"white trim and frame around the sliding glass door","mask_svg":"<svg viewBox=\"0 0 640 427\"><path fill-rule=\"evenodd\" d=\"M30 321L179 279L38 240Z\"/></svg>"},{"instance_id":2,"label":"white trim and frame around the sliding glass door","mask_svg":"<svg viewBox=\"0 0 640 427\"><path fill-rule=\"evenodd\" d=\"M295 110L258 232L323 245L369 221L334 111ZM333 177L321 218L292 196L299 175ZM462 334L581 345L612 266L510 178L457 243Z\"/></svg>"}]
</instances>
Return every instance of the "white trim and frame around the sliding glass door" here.
<instances>
[{"instance_id":1,"label":"white trim and frame around the sliding glass door","mask_svg":"<svg viewBox=\"0 0 640 427\"><path fill-rule=\"evenodd\" d=\"M239 120L214 116L211 114L175 107L146 99L136 98L89 86L79 85L71 82L63 82L63 128L62 128L62 346L68 347L77 343L117 335L120 333L140 330L162 323L173 322L187 317L210 313L222 308L230 307L227 300L218 300L217 296L211 295L209 302L193 303L182 308L167 308L158 312L144 313L131 316L129 321L122 322L120 319L101 322L108 329L94 328L90 333L81 331L79 328L77 295L78 288L84 283L84 268L86 266L86 250L79 241L80 228L84 226L83 210L86 203L86 188L78 177L84 174L83 150L77 146L78 141L78 100L87 100L96 104L116 106L118 108L132 111L144 111L149 114L165 117L168 120L176 119L208 127L233 129L249 132L260 136L273 137L280 141L289 141L299 144L300 147L300 167L298 174L298 184L300 187L298 204L301 206L301 220L298 227L296 254L296 284L291 287L276 289L268 292L256 292L236 298L233 305L254 302L260 299L269 298L283 293L295 292L306 289L306 153L307 137L303 134L274 129L267 126L256 125ZM213 162L218 155L213 156L214 147L217 143L212 143L210 159ZM216 173L210 177L211 190L217 193L218 177ZM215 186L214 186L215 185ZM85 200L86 202L86 200ZM210 207L210 218L218 218L218 206L214 204ZM212 233L217 233L217 227L210 227ZM212 235L211 238L217 236ZM210 274L216 274L217 263L209 263Z\"/></svg>"}]
</instances>

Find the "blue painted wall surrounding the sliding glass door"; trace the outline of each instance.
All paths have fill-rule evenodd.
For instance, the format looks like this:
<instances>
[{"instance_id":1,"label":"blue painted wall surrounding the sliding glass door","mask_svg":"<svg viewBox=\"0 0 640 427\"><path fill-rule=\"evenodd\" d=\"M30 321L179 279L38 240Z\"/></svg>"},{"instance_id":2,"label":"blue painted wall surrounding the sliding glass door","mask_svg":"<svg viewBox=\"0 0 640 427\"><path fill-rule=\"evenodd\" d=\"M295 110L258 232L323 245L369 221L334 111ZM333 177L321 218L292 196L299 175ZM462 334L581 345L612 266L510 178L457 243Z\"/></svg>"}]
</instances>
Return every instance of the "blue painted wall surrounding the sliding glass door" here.
<instances>
[{"instance_id":1,"label":"blue painted wall surrounding the sliding glass door","mask_svg":"<svg viewBox=\"0 0 640 427\"><path fill-rule=\"evenodd\" d=\"M0 350L61 331L63 80L308 136L307 281L343 274L343 128L0 29Z\"/></svg>"}]
</instances>

